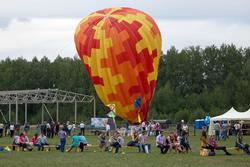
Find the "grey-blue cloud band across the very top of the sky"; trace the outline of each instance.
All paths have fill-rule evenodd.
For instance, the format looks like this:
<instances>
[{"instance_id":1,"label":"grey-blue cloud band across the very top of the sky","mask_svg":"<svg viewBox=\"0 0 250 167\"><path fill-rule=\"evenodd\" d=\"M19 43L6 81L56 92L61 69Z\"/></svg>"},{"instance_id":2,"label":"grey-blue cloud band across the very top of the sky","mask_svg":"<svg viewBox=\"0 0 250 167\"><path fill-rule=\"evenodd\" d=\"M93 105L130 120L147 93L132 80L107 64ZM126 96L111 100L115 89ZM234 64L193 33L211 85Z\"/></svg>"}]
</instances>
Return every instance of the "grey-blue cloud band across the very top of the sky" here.
<instances>
[{"instance_id":1,"label":"grey-blue cloud band across the very top of the sky","mask_svg":"<svg viewBox=\"0 0 250 167\"><path fill-rule=\"evenodd\" d=\"M0 17L83 17L95 10L117 6L137 8L156 19L249 21L250 15L249 0L8 0L1 3Z\"/></svg>"}]
</instances>

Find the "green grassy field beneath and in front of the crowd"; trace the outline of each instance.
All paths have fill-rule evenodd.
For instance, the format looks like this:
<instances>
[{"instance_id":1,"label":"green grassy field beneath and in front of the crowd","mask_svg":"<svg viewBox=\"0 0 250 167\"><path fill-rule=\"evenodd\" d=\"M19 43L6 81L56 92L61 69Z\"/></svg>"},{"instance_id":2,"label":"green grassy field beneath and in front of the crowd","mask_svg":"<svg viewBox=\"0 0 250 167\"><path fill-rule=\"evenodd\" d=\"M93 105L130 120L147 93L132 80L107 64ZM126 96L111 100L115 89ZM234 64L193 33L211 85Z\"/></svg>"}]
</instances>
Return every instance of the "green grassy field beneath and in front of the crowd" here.
<instances>
[{"instance_id":1,"label":"green grassy field beneath and in front of the crowd","mask_svg":"<svg viewBox=\"0 0 250 167\"><path fill-rule=\"evenodd\" d=\"M166 132L166 135L169 132ZM97 137L87 133L89 143L97 145ZM68 167L68 166L89 166L89 167L250 167L250 156L243 152L230 150L232 156L225 156L222 151L217 151L214 157L201 157L199 155L199 133L196 136L190 136L192 151L189 154L178 154L175 152L161 155L159 150L154 146L154 137L149 138L152 146L152 153L138 153L137 148L122 148L120 153L113 154L102 152L97 147L89 147L83 153L70 152L61 153L55 149L50 152L0 152L0 167ZM234 137L226 142L219 142L220 145L232 147ZM126 138L126 142L129 139ZM244 137L245 142L250 143L250 137ZM58 144L58 138L48 140L50 144ZM67 144L70 144L71 138L68 138ZM0 138L0 145L10 144L11 139L8 137ZM124 154L122 154L124 152Z\"/></svg>"}]
</instances>

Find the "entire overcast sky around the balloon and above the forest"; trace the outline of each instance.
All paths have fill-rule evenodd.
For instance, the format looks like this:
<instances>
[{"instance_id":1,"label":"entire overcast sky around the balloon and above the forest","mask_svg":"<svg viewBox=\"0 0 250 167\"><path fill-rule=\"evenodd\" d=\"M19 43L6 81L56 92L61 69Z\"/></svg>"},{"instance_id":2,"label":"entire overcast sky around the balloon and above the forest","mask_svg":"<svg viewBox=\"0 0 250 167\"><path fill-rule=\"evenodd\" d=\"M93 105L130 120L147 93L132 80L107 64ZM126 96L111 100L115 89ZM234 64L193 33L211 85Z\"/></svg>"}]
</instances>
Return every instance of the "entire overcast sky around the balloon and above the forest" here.
<instances>
[{"instance_id":1,"label":"entire overcast sky around the balloon and above the forest","mask_svg":"<svg viewBox=\"0 0 250 167\"><path fill-rule=\"evenodd\" d=\"M73 57L74 30L106 7L145 11L157 22L163 51L222 43L250 46L249 0L0 0L0 59Z\"/></svg>"}]
</instances>

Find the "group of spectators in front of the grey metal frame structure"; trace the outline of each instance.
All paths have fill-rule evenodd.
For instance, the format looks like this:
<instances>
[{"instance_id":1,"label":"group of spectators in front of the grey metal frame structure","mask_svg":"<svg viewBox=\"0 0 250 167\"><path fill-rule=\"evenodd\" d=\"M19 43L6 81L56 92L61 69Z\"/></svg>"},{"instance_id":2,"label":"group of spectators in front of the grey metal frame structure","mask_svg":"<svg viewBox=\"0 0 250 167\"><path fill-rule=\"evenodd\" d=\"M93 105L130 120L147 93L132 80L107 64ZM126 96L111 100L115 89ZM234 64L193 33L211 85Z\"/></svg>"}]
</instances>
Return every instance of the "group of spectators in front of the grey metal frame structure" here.
<instances>
[{"instance_id":1,"label":"group of spectators in front of the grey metal frame structure","mask_svg":"<svg viewBox=\"0 0 250 167\"><path fill-rule=\"evenodd\" d=\"M10 136L12 138L12 149L21 149L22 151L32 151L34 147L38 148L38 151L43 151L44 146L49 144L47 138L53 138L55 135L59 137L59 144L56 145L58 150L64 152L66 138L72 136L72 144L67 151L71 151L73 148L79 147L83 151L84 146L87 145L87 140L84 136L85 124L83 121L78 126L75 123L59 122L43 122L38 123L36 126L36 133L32 136L31 140L28 138L30 130L29 123L23 125L22 132L20 124L14 123L0 123L0 137ZM72 135L73 134L73 135Z\"/></svg>"}]
</instances>

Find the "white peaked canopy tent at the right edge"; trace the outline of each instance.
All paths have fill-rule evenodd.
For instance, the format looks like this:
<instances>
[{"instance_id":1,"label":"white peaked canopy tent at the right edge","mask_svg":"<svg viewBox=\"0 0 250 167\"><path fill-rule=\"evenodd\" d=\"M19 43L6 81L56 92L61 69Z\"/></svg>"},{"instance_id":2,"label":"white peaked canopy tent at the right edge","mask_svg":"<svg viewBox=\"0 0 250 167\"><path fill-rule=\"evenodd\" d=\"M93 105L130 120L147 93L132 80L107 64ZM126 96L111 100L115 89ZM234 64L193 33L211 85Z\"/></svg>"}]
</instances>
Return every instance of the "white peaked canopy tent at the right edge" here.
<instances>
[{"instance_id":1,"label":"white peaked canopy tent at the right edge","mask_svg":"<svg viewBox=\"0 0 250 167\"><path fill-rule=\"evenodd\" d=\"M215 121L247 121L250 120L250 109L246 112L238 112L233 107L222 115L212 117L209 125L209 135L214 134Z\"/></svg>"}]
</instances>

